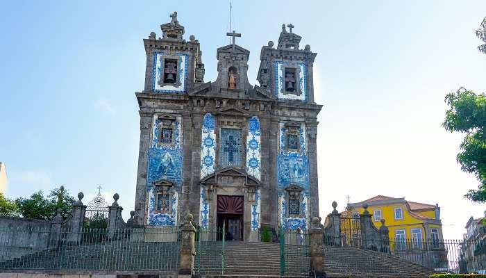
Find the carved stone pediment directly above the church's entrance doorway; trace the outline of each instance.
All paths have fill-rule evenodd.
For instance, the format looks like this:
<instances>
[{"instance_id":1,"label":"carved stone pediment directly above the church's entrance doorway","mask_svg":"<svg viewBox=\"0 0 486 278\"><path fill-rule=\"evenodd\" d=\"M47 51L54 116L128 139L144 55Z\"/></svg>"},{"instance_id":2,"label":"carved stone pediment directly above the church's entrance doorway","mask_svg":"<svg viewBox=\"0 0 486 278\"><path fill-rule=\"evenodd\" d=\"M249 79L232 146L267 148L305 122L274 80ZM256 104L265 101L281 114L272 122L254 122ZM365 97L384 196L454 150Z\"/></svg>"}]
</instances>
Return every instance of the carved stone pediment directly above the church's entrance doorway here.
<instances>
[{"instance_id":1,"label":"carved stone pediment directly above the church's entrance doorway","mask_svg":"<svg viewBox=\"0 0 486 278\"><path fill-rule=\"evenodd\" d=\"M201 179L200 183L203 186L260 186L260 181L254 177L249 176L243 170L235 167L226 167L218 170L213 174Z\"/></svg>"}]
</instances>

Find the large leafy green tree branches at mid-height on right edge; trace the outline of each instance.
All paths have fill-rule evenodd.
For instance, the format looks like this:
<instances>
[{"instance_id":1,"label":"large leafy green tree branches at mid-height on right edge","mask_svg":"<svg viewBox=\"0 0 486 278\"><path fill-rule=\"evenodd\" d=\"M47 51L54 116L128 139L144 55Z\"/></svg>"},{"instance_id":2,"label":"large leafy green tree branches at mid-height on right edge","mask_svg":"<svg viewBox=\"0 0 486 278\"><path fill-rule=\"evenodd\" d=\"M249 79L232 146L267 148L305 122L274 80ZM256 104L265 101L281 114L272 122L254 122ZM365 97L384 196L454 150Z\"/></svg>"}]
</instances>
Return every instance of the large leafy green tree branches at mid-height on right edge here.
<instances>
[{"instance_id":1,"label":"large leafy green tree branches at mid-height on right edge","mask_svg":"<svg viewBox=\"0 0 486 278\"><path fill-rule=\"evenodd\" d=\"M461 87L446 95L445 101L449 110L442 126L447 131L466 134L457 161L462 171L474 174L480 181L478 190L469 190L464 196L474 202L486 202L486 95Z\"/></svg>"}]
</instances>

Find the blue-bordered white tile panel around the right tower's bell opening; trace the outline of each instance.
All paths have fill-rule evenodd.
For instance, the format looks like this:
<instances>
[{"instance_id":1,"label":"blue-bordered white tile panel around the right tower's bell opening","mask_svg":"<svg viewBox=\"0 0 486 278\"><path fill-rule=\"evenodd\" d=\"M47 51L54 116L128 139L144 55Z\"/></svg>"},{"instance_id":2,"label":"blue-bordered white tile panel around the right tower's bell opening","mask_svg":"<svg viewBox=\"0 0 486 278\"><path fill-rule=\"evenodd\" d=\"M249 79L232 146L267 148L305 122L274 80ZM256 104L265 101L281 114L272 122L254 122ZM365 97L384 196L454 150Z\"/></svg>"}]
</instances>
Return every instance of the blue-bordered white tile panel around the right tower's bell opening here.
<instances>
[{"instance_id":1,"label":"blue-bordered white tile panel around the right tower's bell opening","mask_svg":"<svg viewBox=\"0 0 486 278\"><path fill-rule=\"evenodd\" d=\"M307 76L305 76L305 72L307 69L307 65L303 63L294 63L294 66L300 67L299 70L299 78L296 80L296 84L299 85L300 91L302 92L301 95L294 95L294 94L287 94L284 95L282 92L282 88L285 85L285 76L283 76L283 67L285 65L289 65L288 62L283 61L276 61L275 62L275 95L278 99L294 99L300 101L307 101Z\"/></svg>"}]
</instances>

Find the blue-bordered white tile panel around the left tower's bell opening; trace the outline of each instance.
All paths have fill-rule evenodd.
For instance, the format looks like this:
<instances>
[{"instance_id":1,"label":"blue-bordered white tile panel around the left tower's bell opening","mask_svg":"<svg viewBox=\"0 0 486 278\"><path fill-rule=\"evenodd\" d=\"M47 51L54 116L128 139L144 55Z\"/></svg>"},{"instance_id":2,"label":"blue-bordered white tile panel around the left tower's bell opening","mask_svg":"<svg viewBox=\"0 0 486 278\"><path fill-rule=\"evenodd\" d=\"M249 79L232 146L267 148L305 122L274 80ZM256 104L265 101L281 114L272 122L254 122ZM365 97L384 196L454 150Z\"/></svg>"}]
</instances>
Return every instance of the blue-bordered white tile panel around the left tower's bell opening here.
<instances>
[{"instance_id":1,"label":"blue-bordered white tile panel around the left tower's bell opening","mask_svg":"<svg viewBox=\"0 0 486 278\"><path fill-rule=\"evenodd\" d=\"M169 55L156 52L153 55L152 90L154 92L183 93L187 87L187 55ZM167 67L167 65L171 67ZM174 83L167 83L165 76L171 74Z\"/></svg>"}]
</instances>

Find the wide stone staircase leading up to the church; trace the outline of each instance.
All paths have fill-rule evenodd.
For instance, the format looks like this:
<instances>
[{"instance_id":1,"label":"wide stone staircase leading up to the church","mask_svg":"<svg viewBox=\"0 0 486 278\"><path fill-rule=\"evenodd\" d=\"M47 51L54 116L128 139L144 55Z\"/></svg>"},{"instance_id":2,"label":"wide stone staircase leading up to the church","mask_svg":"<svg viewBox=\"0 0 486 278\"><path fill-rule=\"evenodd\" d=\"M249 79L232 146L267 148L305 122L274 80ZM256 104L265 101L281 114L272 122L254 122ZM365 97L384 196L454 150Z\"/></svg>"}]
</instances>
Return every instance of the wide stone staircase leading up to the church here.
<instances>
[{"instance_id":1,"label":"wide stone staircase leading up to the church","mask_svg":"<svg viewBox=\"0 0 486 278\"><path fill-rule=\"evenodd\" d=\"M0 269L156 271L174 275L178 269L178 248L178 243L75 245L3 261ZM280 276L279 243L226 242L224 270L221 241L196 243L196 249L194 267L199 277ZM433 274L430 268L371 250L326 246L325 251L328 277L425 278ZM309 252L308 246L285 245L286 277L308 277Z\"/></svg>"}]
</instances>

